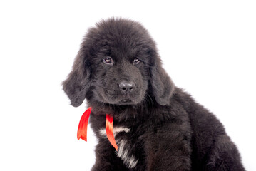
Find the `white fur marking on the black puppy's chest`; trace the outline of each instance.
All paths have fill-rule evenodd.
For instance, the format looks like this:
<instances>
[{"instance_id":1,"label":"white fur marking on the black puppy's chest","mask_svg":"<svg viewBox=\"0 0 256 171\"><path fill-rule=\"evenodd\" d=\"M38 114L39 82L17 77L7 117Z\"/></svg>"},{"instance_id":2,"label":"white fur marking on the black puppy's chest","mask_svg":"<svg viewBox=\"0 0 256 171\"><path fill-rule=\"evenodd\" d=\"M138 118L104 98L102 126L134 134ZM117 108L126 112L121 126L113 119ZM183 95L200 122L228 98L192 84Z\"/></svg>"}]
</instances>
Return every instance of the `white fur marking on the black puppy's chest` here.
<instances>
[{"instance_id":1,"label":"white fur marking on the black puppy's chest","mask_svg":"<svg viewBox=\"0 0 256 171\"><path fill-rule=\"evenodd\" d=\"M130 129L125 128L125 127L114 127L113 128L114 136L116 136L118 133L121 133L121 132L129 133ZM106 136L106 129L101 128L101 130L99 130L99 133L103 136ZM136 159L134 157L134 155L131 154L131 152L129 151L129 145L128 145L127 140L117 139L116 143L118 145L118 151L116 151L116 155L123 160L123 163L127 167L134 168L138 163L138 159Z\"/></svg>"}]
</instances>

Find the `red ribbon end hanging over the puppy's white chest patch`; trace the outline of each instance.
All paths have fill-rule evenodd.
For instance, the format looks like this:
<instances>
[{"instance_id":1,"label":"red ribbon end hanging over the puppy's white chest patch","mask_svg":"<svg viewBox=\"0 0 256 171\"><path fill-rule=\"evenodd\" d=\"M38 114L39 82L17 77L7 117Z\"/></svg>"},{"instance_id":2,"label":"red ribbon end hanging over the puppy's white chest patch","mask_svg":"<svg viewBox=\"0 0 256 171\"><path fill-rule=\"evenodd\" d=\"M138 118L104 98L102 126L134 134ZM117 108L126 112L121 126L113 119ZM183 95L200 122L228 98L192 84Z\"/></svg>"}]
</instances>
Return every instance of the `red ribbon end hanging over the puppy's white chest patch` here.
<instances>
[{"instance_id":1,"label":"red ribbon end hanging over the puppy's white chest patch","mask_svg":"<svg viewBox=\"0 0 256 171\"><path fill-rule=\"evenodd\" d=\"M116 140L113 134L113 117L108 114L106 115L106 134L111 145L118 150L118 145L116 145Z\"/></svg>"}]
</instances>

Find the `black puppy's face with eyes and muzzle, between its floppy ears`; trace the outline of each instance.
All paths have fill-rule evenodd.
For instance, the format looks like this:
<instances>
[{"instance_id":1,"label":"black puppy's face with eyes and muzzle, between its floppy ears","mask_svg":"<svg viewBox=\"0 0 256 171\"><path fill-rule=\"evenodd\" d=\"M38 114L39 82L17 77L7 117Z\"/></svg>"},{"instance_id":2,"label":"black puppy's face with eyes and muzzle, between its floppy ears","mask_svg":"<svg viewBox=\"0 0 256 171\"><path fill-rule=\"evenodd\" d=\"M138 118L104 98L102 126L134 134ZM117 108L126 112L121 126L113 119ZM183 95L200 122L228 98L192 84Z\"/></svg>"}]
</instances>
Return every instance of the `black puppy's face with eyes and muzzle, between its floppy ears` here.
<instances>
[{"instance_id":1,"label":"black puppy's face with eyes and muzzle, between its floppy ears","mask_svg":"<svg viewBox=\"0 0 256 171\"><path fill-rule=\"evenodd\" d=\"M134 105L145 98L150 73L149 58L138 42L113 36L96 45L92 65L92 91L96 100Z\"/></svg>"}]
</instances>

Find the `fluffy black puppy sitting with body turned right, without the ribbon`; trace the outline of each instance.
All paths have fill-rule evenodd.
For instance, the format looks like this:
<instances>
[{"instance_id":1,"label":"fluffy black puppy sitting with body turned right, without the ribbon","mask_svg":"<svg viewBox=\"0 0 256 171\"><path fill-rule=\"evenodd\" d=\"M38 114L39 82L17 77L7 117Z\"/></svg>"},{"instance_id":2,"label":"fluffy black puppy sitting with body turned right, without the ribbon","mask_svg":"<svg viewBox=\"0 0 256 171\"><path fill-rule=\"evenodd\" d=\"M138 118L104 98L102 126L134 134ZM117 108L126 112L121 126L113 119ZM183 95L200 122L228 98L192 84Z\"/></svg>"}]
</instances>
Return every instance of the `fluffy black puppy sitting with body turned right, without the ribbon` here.
<instances>
[{"instance_id":1,"label":"fluffy black puppy sitting with body turned right, without the ribbon","mask_svg":"<svg viewBox=\"0 0 256 171\"><path fill-rule=\"evenodd\" d=\"M245 170L223 125L175 87L155 41L135 21L108 19L90 28L63 90L71 105L86 98L92 107L93 171ZM104 131L107 113L118 151Z\"/></svg>"}]
</instances>

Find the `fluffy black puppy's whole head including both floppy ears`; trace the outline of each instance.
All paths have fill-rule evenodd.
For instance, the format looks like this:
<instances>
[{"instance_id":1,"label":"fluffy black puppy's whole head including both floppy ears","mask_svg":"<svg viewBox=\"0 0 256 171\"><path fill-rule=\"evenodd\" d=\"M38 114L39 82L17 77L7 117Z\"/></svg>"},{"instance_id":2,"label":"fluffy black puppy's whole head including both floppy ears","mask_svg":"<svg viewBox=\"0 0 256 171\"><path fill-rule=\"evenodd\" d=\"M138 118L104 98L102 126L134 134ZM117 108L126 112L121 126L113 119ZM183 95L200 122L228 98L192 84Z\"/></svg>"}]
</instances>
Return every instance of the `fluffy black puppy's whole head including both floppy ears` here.
<instances>
[{"instance_id":1,"label":"fluffy black puppy's whole head including both floppy ears","mask_svg":"<svg viewBox=\"0 0 256 171\"><path fill-rule=\"evenodd\" d=\"M135 21L108 19L89 29L73 70L63 82L71 105L167 105L174 85L161 67L155 42Z\"/></svg>"}]
</instances>

